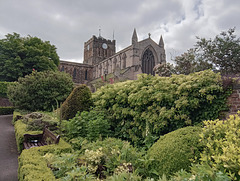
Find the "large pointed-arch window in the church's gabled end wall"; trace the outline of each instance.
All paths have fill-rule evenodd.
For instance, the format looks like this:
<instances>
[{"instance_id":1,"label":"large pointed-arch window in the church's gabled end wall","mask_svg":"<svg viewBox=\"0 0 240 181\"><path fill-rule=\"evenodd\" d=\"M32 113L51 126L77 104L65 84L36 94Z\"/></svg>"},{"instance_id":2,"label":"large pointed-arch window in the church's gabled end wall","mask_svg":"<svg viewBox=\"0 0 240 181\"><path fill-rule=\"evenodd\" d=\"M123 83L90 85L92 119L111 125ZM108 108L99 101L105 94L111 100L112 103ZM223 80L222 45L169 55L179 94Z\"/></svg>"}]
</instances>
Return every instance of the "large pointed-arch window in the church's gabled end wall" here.
<instances>
[{"instance_id":1,"label":"large pointed-arch window in the church's gabled end wall","mask_svg":"<svg viewBox=\"0 0 240 181\"><path fill-rule=\"evenodd\" d=\"M155 66L153 52L148 48L142 56L142 72L155 75L153 68Z\"/></svg>"}]
</instances>

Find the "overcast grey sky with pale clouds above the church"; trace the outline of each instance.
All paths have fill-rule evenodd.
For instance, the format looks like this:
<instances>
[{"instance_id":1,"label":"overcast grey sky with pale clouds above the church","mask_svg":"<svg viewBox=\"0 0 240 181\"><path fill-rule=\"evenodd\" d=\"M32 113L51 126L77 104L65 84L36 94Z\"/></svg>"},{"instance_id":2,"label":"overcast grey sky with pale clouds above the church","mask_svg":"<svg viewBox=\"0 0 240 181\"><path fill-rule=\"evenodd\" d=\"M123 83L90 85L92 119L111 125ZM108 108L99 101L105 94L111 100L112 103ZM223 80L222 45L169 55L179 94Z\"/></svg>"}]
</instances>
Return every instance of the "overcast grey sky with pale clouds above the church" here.
<instances>
[{"instance_id":1,"label":"overcast grey sky with pale clouds above the church","mask_svg":"<svg viewBox=\"0 0 240 181\"><path fill-rule=\"evenodd\" d=\"M240 0L0 0L0 39L13 32L37 36L57 47L61 60L82 62L92 35L129 46L133 29L142 40L163 35L167 60L186 52L196 36L214 38L236 27Z\"/></svg>"}]
</instances>

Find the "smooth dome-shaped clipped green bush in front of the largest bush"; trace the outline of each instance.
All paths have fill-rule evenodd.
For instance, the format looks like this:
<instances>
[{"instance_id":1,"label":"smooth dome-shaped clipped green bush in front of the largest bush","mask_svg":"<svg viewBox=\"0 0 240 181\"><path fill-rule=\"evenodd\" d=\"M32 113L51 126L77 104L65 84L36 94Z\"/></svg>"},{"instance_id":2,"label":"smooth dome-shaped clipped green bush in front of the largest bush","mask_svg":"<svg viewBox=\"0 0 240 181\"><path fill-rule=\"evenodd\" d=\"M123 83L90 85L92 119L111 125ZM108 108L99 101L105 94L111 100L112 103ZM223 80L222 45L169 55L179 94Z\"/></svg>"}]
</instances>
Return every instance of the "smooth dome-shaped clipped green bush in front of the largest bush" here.
<instances>
[{"instance_id":1,"label":"smooth dome-shaped clipped green bush in front of the largest bush","mask_svg":"<svg viewBox=\"0 0 240 181\"><path fill-rule=\"evenodd\" d=\"M201 130L189 126L160 137L148 150L149 159L153 159L149 169L167 177L181 169L189 170L190 159L199 158L203 149L199 141Z\"/></svg>"}]
</instances>

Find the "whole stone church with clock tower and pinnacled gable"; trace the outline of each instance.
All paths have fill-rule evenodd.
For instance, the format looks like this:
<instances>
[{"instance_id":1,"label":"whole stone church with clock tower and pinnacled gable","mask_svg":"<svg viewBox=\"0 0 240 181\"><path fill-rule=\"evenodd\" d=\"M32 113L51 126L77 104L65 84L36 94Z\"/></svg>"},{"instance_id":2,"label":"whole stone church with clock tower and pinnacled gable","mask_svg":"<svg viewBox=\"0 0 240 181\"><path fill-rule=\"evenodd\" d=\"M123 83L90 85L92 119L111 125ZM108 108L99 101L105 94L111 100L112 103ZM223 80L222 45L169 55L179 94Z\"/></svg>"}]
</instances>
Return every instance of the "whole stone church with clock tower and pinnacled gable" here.
<instances>
[{"instance_id":1,"label":"whole stone church with clock tower and pinnacled gable","mask_svg":"<svg viewBox=\"0 0 240 181\"><path fill-rule=\"evenodd\" d=\"M132 35L132 44L116 52L116 41L101 36L92 36L84 43L83 63L60 61L59 70L69 73L77 84L90 84L96 79L105 80L107 75L125 80L137 79L137 74L154 75L153 68L166 62L162 36L159 43L149 34L147 39L138 41L136 30Z\"/></svg>"}]
</instances>

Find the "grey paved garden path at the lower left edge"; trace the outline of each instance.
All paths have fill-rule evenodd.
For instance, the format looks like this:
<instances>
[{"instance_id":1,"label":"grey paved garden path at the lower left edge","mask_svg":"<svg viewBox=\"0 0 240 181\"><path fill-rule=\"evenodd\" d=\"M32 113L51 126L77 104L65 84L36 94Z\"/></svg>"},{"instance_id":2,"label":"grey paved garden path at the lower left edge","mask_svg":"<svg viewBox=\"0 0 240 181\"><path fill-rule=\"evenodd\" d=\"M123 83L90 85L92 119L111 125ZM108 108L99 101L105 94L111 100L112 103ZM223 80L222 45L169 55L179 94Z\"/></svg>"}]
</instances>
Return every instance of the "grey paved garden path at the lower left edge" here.
<instances>
[{"instance_id":1,"label":"grey paved garden path at the lower left edge","mask_svg":"<svg viewBox=\"0 0 240 181\"><path fill-rule=\"evenodd\" d=\"M18 180L18 152L12 115L0 116L0 181Z\"/></svg>"}]
</instances>

